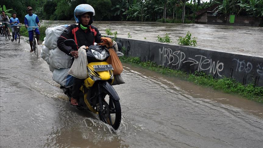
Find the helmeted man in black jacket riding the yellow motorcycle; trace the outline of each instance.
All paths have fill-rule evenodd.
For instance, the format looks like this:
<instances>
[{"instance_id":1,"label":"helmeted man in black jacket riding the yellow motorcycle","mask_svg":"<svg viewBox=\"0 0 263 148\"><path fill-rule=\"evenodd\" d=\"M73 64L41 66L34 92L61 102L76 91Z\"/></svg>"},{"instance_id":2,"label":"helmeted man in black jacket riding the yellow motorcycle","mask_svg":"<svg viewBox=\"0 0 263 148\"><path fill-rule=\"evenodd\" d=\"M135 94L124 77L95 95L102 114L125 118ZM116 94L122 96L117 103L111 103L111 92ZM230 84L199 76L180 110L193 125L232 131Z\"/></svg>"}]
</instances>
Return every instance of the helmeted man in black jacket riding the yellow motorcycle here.
<instances>
[{"instance_id":1,"label":"helmeted man in black jacket riding the yellow motorcycle","mask_svg":"<svg viewBox=\"0 0 263 148\"><path fill-rule=\"evenodd\" d=\"M70 25L59 37L57 45L59 49L69 56L78 58L78 47L83 45L94 45L94 42L101 43L101 34L98 29L91 24L93 23L95 11L91 5L81 4L76 6L74 10L74 18L76 24ZM76 47L69 47L64 44L66 39L73 39L76 42ZM71 105L78 105L77 99L80 92L81 84L85 79L74 78Z\"/></svg>"}]
</instances>

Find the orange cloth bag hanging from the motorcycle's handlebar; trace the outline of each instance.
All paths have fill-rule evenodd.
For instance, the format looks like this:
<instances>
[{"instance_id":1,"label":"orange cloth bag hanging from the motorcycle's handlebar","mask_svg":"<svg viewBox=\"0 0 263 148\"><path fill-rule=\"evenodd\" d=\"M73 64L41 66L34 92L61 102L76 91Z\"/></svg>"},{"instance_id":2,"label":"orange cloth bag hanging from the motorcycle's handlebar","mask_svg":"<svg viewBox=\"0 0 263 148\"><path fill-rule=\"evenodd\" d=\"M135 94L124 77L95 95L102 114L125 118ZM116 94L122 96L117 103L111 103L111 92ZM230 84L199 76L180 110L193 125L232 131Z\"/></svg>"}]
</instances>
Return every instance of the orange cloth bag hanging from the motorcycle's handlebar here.
<instances>
[{"instance_id":1,"label":"orange cloth bag hanging from the motorcycle's handlebar","mask_svg":"<svg viewBox=\"0 0 263 148\"><path fill-rule=\"evenodd\" d=\"M110 56L106 60L107 63L112 64L113 67L113 74L119 75L123 72L123 64L121 63L119 57L117 56L114 49L112 49L112 39L101 37L103 43L99 43L98 45L105 45L109 49Z\"/></svg>"}]
</instances>

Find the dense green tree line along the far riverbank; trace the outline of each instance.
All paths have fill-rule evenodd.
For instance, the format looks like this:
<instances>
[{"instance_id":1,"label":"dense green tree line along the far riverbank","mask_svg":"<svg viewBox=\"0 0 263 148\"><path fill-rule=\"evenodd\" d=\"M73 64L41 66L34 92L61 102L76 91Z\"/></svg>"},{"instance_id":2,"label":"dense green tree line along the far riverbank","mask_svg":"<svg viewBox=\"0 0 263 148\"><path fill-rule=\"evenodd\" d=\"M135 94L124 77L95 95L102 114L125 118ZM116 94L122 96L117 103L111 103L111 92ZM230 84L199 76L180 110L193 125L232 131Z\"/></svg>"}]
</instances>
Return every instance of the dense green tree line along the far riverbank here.
<instances>
[{"instance_id":1,"label":"dense green tree line along the far riverbank","mask_svg":"<svg viewBox=\"0 0 263 148\"><path fill-rule=\"evenodd\" d=\"M27 6L42 20L74 20L74 9L80 4L92 5L97 21L189 23L194 21L196 12L212 5L218 5L217 15L263 16L263 0L1 0L1 5L13 9L21 22Z\"/></svg>"}]
</instances>

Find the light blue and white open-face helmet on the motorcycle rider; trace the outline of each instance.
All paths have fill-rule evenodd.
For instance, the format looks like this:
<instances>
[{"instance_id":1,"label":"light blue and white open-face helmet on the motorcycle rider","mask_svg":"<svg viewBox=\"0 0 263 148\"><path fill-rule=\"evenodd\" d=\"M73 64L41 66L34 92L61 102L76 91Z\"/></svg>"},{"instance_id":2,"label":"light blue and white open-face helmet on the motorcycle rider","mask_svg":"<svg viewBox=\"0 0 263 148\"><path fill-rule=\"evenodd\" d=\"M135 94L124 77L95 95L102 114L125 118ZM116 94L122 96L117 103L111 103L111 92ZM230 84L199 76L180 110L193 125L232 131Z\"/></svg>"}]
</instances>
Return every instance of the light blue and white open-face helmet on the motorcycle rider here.
<instances>
[{"instance_id":1,"label":"light blue and white open-face helmet on the motorcycle rider","mask_svg":"<svg viewBox=\"0 0 263 148\"><path fill-rule=\"evenodd\" d=\"M95 10L89 4L80 4L80 5L76 6L76 8L74 10L74 18L75 18L76 23L80 23L80 15L87 13L87 12L93 14L91 16L91 20L89 22L89 25L91 25L91 23L93 22L93 16L95 16Z\"/></svg>"}]
</instances>

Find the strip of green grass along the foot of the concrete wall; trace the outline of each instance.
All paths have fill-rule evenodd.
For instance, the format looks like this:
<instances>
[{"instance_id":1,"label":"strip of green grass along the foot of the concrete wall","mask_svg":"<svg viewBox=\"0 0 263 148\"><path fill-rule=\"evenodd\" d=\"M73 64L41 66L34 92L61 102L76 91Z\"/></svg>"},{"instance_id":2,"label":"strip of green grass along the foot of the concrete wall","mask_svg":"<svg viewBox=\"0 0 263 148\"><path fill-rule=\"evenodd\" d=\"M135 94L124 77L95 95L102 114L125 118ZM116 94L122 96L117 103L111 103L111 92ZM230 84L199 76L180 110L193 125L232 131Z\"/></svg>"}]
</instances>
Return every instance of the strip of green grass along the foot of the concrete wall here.
<instances>
[{"instance_id":1,"label":"strip of green grass along the foot of the concrete wall","mask_svg":"<svg viewBox=\"0 0 263 148\"><path fill-rule=\"evenodd\" d=\"M139 57L121 56L120 60L124 63L131 63L164 75L176 76L187 81L192 81L199 85L222 90L226 93L239 94L246 97L247 99L263 103L263 87L255 87L253 84L242 85L241 83L230 78L215 79L212 75L207 75L201 71L196 71L195 74L187 74L182 70L173 70L168 67L157 65L155 62L142 62Z\"/></svg>"}]
</instances>

